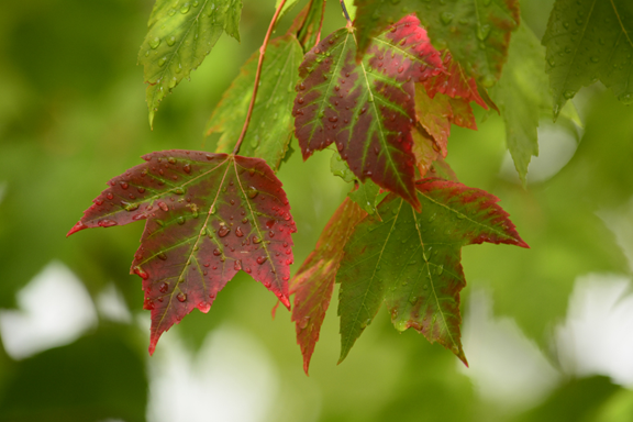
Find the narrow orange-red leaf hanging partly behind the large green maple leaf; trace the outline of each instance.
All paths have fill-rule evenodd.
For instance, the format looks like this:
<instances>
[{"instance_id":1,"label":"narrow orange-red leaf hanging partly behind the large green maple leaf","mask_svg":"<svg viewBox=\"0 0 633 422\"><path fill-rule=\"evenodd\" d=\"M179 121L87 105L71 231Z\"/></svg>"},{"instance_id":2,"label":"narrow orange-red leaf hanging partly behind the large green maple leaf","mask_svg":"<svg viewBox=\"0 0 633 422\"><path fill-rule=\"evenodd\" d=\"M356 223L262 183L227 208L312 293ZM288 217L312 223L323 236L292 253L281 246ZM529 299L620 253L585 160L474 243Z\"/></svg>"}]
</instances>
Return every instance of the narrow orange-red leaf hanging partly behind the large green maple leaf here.
<instances>
[{"instance_id":1,"label":"narrow orange-red leaf hanging partly behind the large green maple leaf","mask_svg":"<svg viewBox=\"0 0 633 422\"><path fill-rule=\"evenodd\" d=\"M330 306L343 246L354 226L366 215L358 204L345 198L323 229L314 251L290 280L290 295L295 295L292 321L296 322L297 344L301 347L306 374Z\"/></svg>"}]
</instances>

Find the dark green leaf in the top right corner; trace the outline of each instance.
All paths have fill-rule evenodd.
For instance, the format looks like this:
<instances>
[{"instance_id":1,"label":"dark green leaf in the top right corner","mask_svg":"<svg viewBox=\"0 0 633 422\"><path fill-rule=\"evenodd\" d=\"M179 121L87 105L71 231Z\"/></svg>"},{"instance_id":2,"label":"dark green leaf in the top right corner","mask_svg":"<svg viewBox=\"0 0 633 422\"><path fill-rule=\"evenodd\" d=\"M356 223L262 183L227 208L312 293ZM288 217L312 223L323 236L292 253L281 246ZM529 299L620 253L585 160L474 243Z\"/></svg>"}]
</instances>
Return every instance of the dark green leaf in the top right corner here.
<instances>
[{"instance_id":1,"label":"dark green leaf in the top right corner","mask_svg":"<svg viewBox=\"0 0 633 422\"><path fill-rule=\"evenodd\" d=\"M582 86L601 80L633 103L633 3L630 0L557 0L543 36L554 114Z\"/></svg>"}]
</instances>

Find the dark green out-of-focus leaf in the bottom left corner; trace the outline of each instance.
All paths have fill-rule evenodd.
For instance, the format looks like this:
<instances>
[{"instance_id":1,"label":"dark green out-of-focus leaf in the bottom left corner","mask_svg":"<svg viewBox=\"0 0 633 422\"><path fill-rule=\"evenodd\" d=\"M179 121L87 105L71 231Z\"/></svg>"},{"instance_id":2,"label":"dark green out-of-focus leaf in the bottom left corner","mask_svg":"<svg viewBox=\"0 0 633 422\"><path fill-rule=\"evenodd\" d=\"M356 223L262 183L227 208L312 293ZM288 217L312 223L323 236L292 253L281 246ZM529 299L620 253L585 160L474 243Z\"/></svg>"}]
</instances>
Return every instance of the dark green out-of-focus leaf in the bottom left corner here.
<instances>
[{"instance_id":1,"label":"dark green out-of-focus leaf in the bottom left corner","mask_svg":"<svg viewBox=\"0 0 633 422\"><path fill-rule=\"evenodd\" d=\"M15 363L0 398L0 420L145 421L145 363L122 333L123 326L100 330Z\"/></svg>"}]
</instances>

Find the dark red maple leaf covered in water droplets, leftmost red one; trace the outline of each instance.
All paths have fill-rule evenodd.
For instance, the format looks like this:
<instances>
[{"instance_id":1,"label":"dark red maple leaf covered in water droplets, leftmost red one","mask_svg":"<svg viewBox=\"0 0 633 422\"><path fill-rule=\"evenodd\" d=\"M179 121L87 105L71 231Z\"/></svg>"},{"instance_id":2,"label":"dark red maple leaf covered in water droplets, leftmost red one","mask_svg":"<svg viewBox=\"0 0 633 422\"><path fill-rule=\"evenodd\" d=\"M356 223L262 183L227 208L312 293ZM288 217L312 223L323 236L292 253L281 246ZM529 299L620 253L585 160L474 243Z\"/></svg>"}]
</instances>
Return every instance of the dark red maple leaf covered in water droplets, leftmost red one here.
<instances>
[{"instance_id":1,"label":"dark red maple leaf covered in water droplets, leftmost red one","mask_svg":"<svg viewBox=\"0 0 633 422\"><path fill-rule=\"evenodd\" d=\"M109 181L68 235L147 220L131 274L152 311L149 353L160 334L215 296L240 270L289 307L296 232L281 182L258 158L163 151Z\"/></svg>"}]
</instances>

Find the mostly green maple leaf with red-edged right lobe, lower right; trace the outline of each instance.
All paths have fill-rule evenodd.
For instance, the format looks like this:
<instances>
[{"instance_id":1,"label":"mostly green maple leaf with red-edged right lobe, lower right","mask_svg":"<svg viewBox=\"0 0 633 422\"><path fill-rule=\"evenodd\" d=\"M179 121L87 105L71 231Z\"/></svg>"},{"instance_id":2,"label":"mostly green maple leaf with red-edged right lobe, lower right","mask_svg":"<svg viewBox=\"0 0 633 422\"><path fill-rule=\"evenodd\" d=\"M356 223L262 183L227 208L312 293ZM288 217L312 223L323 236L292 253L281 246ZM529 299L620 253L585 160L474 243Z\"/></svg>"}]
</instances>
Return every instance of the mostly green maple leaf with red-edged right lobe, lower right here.
<instances>
[{"instance_id":1,"label":"mostly green maple leaf with red-edged right lobe, lower right","mask_svg":"<svg viewBox=\"0 0 633 422\"><path fill-rule=\"evenodd\" d=\"M417 182L422 212L391 193L345 245L341 282L341 358L385 301L397 330L413 327L466 364L459 325L459 291L466 285L460 249L482 242L528 247L498 198L459 182Z\"/></svg>"}]
</instances>

